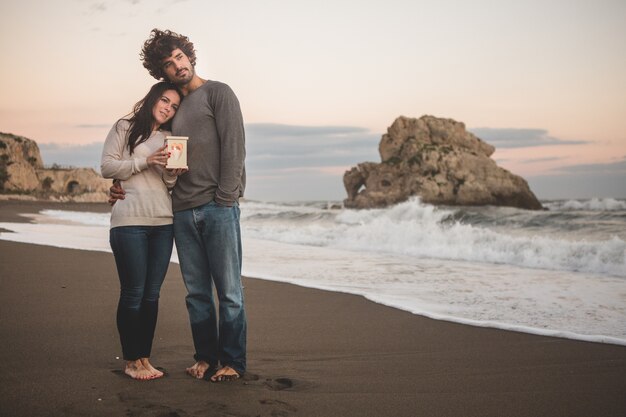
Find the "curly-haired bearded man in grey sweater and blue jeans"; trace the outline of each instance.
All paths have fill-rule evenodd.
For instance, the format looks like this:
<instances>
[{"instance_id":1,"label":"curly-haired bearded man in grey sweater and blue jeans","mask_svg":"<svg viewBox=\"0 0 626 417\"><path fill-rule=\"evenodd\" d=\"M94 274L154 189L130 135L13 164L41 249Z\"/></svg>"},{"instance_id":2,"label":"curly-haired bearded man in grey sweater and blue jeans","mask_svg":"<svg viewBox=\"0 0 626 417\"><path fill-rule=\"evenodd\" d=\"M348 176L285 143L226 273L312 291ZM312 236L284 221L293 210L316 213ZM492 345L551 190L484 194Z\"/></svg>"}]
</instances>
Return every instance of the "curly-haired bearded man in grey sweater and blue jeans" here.
<instances>
[{"instance_id":1,"label":"curly-haired bearded man in grey sweater and blue jeans","mask_svg":"<svg viewBox=\"0 0 626 417\"><path fill-rule=\"evenodd\" d=\"M187 373L210 375L213 382L237 379L246 370L247 327L238 203L245 188L245 134L239 101L226 84L196 74L195 50L186 36L153 29L141 58L154 78L176 84L184 96L172 134L189 137L189 170L177 178L172 206L196 350ZM180 171L170 172L176 174ZM114 185L110 201L118 198L123 190Z\"/></svg>"}]
</instances>

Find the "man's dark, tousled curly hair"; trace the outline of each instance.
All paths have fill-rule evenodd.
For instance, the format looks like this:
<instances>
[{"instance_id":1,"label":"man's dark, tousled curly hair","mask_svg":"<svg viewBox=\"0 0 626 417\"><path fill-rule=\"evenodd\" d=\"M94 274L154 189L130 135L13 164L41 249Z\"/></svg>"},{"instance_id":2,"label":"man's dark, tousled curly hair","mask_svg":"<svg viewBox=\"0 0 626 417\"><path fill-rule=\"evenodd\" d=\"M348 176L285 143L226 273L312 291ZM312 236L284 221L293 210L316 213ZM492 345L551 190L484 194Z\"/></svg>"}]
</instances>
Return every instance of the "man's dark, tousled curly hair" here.
<instances>
[{"instance_id":1,"label":"man's dark, tousled curly hair","mask_svg":"<svg viewBox=\"0 0 626 417\"><path fill-rule=\"evenodd\" d=\"M143 66L157 80L165 79L165 72L161 62L165 58L169 58L174 49L183 51L189 62L196 66L196 50L193 43L189 41L187 36L179 35L171 30L152 29L150 37L144 42L143 48L139 56L143 61Z\"/></svg>"}]
</instances>

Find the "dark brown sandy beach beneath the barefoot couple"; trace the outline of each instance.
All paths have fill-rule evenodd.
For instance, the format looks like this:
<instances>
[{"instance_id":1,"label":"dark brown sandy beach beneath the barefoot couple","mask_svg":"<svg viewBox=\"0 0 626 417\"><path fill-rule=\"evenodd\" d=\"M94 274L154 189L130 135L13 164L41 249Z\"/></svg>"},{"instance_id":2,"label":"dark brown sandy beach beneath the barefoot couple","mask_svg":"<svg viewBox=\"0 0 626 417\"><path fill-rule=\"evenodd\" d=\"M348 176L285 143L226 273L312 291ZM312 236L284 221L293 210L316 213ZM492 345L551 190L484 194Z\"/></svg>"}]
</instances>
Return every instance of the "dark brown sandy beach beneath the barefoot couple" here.
<instances>
[{"instance_id":1,"label":"dark brown sandy beach beneath the barefoot couple","mask_svg":"<svg viewBox=\"0 0 626 417\"><path fill-rule=\"evenodd\" d=\"M0 222L42 208L0 201ZM471 327L363 297L245 278L248 373L194 380L178 265L153 362L122 372L113 256L0 241L2 416L623 416L626 347Z\"/></svg>"}]
</instances>

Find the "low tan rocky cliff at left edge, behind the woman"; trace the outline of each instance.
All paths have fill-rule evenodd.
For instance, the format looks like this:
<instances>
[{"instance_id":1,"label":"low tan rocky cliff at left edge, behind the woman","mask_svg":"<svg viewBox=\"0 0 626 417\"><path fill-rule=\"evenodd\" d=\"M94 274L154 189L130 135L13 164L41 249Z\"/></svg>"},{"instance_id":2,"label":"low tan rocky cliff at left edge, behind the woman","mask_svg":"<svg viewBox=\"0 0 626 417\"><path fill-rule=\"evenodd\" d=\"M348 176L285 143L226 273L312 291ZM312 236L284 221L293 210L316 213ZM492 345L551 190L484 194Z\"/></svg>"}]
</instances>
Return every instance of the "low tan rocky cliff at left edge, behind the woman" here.
<instances>
[{"instance_id":1,"label":"low tan rocky cliff at left edge, behind the woman","mask_svg":"<svg viewBox=\"0 0 626 417\"><path fill-rule=\"evenodd\" d=\"M0 133L0 193L74 201L106 201L110 181L91 168L44 168L37 143Z\"/></svg>"}]
</instances>

